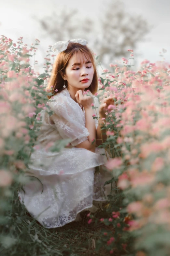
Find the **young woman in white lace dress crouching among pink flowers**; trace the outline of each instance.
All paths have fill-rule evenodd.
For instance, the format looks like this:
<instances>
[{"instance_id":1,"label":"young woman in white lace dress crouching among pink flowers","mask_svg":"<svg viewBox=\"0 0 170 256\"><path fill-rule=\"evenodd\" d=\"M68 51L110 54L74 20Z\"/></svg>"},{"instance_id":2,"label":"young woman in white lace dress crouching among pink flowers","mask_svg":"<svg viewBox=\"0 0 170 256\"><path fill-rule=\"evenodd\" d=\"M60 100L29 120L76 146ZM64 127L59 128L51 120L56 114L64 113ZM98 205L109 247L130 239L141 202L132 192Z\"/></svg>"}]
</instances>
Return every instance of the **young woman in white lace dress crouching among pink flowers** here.
<instances>
[{"instance_id":1,"label":"young woman in white lace dress crouching among pink flowers","mask_svg":"<svg viewBox=\"0 0 170 256\"><path fill-rule=\"evenodd\" d=\"M86 44L85 40L77 39L54 45L60 45L56 46L59 54L46 88L54 94L48 96L53 114L47 110L40 112L42 126L37 138L40 147L34 147L30 172L26 174L35 179L23 186L25 193L22 190L19 193L20 202L46 228L79 220L81 211L94 210L93 203L105 201L108 195L103 187L110 178L108 175L106 178L105 168L95 174L95 167L106 163L106 156L102 155L105 150L96 146L106 140L106 135L101 135L101 119L113 101L108 97L99 106L95 97L96 66ZM93 119L94 103L99 122ZM70 146L60 152L47 150L51 142L62 139L70 139Z\"/></svg>"}]
</instances>

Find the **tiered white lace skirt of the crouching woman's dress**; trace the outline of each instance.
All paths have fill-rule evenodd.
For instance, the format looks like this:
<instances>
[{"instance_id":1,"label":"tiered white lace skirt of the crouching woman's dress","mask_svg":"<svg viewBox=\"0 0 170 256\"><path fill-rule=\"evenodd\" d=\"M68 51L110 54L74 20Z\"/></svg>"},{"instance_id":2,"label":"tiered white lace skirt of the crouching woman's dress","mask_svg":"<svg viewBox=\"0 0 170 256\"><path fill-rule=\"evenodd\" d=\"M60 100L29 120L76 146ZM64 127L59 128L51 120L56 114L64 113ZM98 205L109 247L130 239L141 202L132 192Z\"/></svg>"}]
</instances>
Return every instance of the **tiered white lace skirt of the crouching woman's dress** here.
<instances>
[{"instance_id":1,"label":"tiered white lace skirt of the crouching woman's dress","mask_svg":"<svg viewBox=\"0 0 170 256\"><path fill-rule=\"evenodd\" d=\"M61 152L35 150L30 171L25 173L27 182L18 193L20 202L45 228L74 221L78 213L93 206L93 200L106 201L108 191L103 185L111 174L103 153L103 148L95 153L76 147Z\"/></svg>"}]
</instances>

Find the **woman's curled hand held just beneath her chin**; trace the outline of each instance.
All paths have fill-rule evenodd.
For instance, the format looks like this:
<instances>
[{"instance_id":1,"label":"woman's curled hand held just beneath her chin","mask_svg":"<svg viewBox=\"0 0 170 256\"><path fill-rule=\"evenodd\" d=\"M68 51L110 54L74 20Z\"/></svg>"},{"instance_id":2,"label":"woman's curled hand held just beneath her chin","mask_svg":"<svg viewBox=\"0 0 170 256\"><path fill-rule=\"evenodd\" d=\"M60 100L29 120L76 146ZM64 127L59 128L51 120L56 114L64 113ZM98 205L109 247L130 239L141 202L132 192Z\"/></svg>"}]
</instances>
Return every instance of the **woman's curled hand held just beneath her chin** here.
<instances>
[{"instance_id":1,"label":"woman's curled hand held just beneath her chin","mask_svg":"<svg viewBox=\"0 0 170 256\"><path fill-rule=\"evenodd\" d=\"M90 96L87 96L86 94L84 94L84 90L78 90L77 93L75 94L75 97L76 97L76 100L79 104L81 104L84 109L89 109L92 107L92 103L94 102L94 99L93 99L93 94L89 91L88 94L91 95Z\"/></svg>"}]
</instances>

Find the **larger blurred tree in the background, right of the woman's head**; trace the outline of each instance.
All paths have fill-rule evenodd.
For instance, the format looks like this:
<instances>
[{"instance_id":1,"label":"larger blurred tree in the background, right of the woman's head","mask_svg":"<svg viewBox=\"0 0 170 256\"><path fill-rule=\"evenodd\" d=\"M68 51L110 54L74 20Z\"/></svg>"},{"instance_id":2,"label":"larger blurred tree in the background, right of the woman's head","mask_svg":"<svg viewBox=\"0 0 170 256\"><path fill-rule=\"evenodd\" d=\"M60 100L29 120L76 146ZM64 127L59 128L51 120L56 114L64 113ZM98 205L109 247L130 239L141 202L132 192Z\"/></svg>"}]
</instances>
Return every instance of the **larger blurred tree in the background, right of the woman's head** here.
<instances>
[{"instance_id":1,"label":"larger blurred tree in the background, right of the woman's head","mask_svg":"<svg viewBox=\"0 0 170 256\"><path fill-rule=\"evenodd\" d=\"M98 61L106 64L129 56L127 49L135 50L139 41L146 41L144 37L151 28L140 15L127 13L121 1L110 0L100 19L100 34L94 41L100 54Z\"/></svg>"}]
</instances>

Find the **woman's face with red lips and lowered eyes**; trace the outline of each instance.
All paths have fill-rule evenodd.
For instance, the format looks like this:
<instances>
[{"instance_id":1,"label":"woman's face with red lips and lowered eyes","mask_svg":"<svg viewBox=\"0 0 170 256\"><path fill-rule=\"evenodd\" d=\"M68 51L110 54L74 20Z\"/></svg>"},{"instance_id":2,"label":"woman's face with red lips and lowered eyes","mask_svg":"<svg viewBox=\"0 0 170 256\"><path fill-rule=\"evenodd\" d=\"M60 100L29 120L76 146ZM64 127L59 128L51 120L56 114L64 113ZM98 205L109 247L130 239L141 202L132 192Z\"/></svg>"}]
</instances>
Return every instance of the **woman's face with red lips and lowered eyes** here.
<instances>
[{"instance_id":1,"label":"woman's face with red lips and lowered eyes","mask_svg":"<svg viewBox=\"0 0 170 256\"><path fill-rule=\"evenodd\" d=\"M87 63L83 55L75 54L71 57L65 69L65 79L68 83L68 88L74 90L85 90L88 88L93 79L94 68L92 62ZM82 79L88 79L81 81Z\"/></svg>"}]
</instances>

